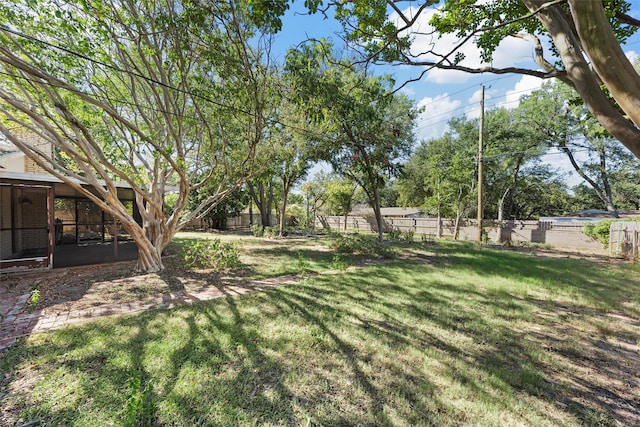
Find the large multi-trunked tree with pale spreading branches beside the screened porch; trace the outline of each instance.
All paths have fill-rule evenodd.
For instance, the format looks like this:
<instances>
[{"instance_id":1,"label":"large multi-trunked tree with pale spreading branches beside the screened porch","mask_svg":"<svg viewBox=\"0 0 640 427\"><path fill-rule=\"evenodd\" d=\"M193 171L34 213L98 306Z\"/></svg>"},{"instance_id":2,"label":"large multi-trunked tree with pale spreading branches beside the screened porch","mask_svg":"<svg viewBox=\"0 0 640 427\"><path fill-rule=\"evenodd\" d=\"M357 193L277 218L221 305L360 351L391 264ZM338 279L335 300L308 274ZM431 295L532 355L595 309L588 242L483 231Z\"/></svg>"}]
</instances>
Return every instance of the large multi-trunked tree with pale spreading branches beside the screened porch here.
<instances>
[{"instance_id":1,"label":"large multi-trunked tree with pale spreading branches beside the screened porch","mask_svg":"<svg viewBox=\"0 0 640 427\"><path fill-rule=\"evenodd\" d=\"M0 132L116 218L138 246L137 269L162 269L175 232L252 174L269 114L268 39L233 1L9 3L0 5ZM117 199L117 181L133 189L142 224ZM204 186L211 193L187 211Z\"/></svg>"}]
</instances>

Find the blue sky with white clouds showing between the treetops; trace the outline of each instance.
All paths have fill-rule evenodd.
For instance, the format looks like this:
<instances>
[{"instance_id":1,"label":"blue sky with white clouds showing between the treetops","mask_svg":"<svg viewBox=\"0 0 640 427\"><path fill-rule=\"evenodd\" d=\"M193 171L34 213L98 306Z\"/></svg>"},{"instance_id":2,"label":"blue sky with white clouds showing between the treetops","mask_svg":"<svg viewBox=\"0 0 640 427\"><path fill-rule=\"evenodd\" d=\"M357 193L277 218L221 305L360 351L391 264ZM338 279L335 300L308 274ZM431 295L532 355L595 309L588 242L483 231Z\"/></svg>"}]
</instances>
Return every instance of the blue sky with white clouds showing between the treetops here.
<instances>
[{"instance_id":1,"label":"blue sky with white clouds showing between the treetops","mask_svg":"<svg viewBox=\"0 0 640 427\"><path fill-rule=\"evenodd\" d=\"M640 18L640 4L632 3L631 15ZM275 52L278 60L283 61L286 50L309 38L332 38L336 44L340 39L335 33L341 30L341 26L333 19L324 19L322 15L312 16L301 14L304 11L302 2L294 2L283 21L283 30L276 35ZM430 16L430 15L429 15ZM421 30L426 27L429 16L420 23ZM438 50L446 52L448 47L455 42L455 37L445 36L436 40ZM421 43L431 43L432 39L416 39L416 49ZM440 48L440 46L442 46ZM623 50L632 60L640 54L640 34L628 40ZM469 66L480 65L477 50L473 44L467 44L462 51L466 58L464 64ZM538 68L533 61L533 45L530 42L511 38L505 40L496 50L493 58L493 66L518 66L525 68ZM398 84L410 77L416 77L422 72L421 67L396 66L380 67L381 73L389 73L395 76ZM480 112L480 88L485 86L485 106L487 109L494 107L514 108L518 105L520 96L530 93L542 84L542 80L536 77L518 74L482 74L472 75L463 72L448 70L431 70L419 82L410 83L403 91L413 98L419 106L425 107L425 112L418 118L416 134L418 140L441 136L447 130L447 122L453 117L466 115L478 117ZM565 159L559 153L550 153L547 162L565 168ZM568 163L567 163L568 164ZM570 185L579 182L576 177L567 177Z\"/></svg>"}]
</instances>

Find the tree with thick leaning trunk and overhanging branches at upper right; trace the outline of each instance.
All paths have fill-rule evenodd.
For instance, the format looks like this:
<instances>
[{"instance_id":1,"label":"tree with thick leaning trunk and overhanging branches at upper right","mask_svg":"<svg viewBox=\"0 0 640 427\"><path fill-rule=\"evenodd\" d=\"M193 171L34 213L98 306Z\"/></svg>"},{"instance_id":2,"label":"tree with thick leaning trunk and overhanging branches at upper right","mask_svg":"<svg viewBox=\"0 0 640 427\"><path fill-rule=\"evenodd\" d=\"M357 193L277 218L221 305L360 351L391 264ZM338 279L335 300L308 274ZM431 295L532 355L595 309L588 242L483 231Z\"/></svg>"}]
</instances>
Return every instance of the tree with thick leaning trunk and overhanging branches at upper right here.
<instances>
[{"instance_id":1,"label":"tree with thick leaning trunk and overhanging branches at upper right","mask_svg":"<svg viewBox=\"0 0 640 427\"><path fill-rule=\"evenodd\" d=\"M310 10L317 10L318 2L310 3ZM598 122L640 158L640 75L620 47L640 25L627 14L630 2L329 0L327 6L334 7L347 40L361 48L365 61L418 66L424 68L422 75L439 68L557 78L572 86ZM434 50L430 41L448 33L459 37L456 46ZM508 37L531 41L541 70L464 64L460 48L466 43L475 43L490 64ZM545 57L545 45L551 46L552 57Z\"/></svg>"}]
</instances>

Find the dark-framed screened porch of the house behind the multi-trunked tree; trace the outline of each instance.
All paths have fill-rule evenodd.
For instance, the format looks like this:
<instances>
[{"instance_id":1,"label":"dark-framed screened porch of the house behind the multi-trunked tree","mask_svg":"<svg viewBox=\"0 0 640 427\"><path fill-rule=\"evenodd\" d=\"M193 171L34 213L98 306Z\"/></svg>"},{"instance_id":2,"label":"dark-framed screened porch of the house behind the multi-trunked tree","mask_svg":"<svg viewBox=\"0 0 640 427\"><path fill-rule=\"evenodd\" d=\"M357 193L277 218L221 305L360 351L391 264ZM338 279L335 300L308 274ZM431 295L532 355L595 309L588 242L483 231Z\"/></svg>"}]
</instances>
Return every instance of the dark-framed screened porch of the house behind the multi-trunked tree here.
<instances>
[{"instance_id":1,"label":"dark-framed screened porch of the house behind the multi-trunked tree","mask_svg":"<svg viewBox=\"0 0 640 427\"><path fill-rule=\"evenodd\" d=\"M118 198L139 219L131 188ZM0 170L0 269L54 268L133 259L126 229L50 175Z\"/></svg>"}]
</instances>

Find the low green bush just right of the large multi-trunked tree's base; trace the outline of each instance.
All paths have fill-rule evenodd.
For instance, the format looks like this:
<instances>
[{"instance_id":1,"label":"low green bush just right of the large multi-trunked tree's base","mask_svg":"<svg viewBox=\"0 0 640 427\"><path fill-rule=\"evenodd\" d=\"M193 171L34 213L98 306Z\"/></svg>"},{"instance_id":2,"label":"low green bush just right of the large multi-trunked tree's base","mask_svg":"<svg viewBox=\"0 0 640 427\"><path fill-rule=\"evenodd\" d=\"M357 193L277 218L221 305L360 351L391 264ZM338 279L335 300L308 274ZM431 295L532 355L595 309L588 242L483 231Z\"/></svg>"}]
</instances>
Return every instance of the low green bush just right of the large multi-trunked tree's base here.
<instances>
[{"instance_id":1,"label":"low green bush just right of the large multi-trunked tree's base","mask_svg":"<svg viewBox=\"0 0 640 427\"><path fill-rule=\"evenodd\" d=\"M188 268L220 271L240 265L240 251L220 239L193 240L182 246L180 256Z\"/></svg>"}]
</instances>

